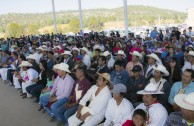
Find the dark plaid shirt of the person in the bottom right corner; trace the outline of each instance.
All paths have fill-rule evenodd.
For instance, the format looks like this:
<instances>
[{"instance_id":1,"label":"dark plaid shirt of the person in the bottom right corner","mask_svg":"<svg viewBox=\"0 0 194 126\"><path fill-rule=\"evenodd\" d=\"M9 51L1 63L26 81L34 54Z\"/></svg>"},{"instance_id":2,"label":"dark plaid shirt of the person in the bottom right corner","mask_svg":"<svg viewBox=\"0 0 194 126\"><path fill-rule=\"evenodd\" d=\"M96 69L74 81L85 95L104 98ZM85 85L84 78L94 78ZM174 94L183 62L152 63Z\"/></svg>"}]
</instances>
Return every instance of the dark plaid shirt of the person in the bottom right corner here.
<instances>
[{"instance_id":1,"label":"dark plaid shirt of the person in the bottom right corner","mask_svg":"<svg viewBox=\"0 0 194 126\"><path fill-rule=\"evenodd\" d=\"M188 125L182 118L181 112L173 112L170 114L165 126L194 126L194 124Z\"/></svg>"}]
</instances>

